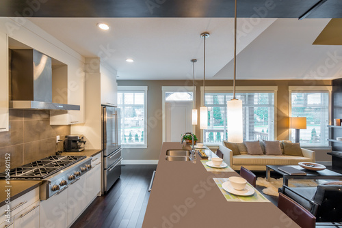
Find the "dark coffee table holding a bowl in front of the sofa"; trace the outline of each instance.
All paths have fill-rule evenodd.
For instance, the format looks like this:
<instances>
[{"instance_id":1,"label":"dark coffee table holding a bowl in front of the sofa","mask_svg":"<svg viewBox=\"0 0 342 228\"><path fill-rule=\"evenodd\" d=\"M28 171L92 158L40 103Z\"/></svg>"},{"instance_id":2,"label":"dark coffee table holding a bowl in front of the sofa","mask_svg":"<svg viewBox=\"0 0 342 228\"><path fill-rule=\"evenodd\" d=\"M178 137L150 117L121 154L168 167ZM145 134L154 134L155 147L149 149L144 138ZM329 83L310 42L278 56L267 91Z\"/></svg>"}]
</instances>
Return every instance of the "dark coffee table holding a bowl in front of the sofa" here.
<instances>
[{"instance_id":1,"label":"dark coffee table holding a bowl in front of the sofa","mask_svg":"<svg viewBox=\"0 0 342 228\"><path fill-rule=\"evenodd\" d=\"M284 165L266 165L266 179L269 182L271 178L271 170L276 171L282 175L282 185L288 186L289 180L342 180L342 174L336 173L329 169L324 169L321 171L311 171L300 167L299 165L287 165L300 171L304 171L306 175L289 175L283 171L280 171L278 167L283 167ZM282 187L283 190L285 187Z\"/></svg>"}]
</instances>

